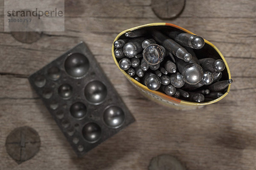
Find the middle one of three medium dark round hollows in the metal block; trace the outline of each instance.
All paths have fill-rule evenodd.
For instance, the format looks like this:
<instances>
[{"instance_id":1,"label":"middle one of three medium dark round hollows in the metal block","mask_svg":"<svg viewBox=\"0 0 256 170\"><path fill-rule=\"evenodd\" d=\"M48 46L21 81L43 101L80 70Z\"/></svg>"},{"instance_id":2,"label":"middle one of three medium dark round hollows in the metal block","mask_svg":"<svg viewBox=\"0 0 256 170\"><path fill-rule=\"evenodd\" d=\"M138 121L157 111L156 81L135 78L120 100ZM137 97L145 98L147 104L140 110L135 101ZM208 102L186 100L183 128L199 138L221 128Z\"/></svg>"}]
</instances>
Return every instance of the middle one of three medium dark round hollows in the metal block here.
<instances>
[{"instance_id":1,"label":"middle one of three medium dark round hollows in the metal block","mask_svg":"<svg viewBox=\"0 0 256 170\"><path fill-rule=\"evenodd\" d=\"M86 110L86 106L81 102L76 102L70 107L70 113L74 118L83 118L86 115Z\"/></svg>"}]
</instances>

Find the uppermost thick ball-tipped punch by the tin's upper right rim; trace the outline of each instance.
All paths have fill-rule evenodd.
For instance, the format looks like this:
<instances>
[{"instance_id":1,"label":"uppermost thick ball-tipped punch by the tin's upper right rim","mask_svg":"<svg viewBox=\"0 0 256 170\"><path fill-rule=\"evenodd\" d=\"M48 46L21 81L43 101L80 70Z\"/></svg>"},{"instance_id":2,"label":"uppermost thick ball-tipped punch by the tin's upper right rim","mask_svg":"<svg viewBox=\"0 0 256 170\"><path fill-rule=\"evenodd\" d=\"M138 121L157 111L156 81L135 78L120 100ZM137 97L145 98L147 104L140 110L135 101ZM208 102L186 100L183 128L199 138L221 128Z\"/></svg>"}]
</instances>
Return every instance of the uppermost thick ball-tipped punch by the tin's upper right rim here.
<instances>
[{"instance_id":1,"label":"uppermost thick ball-tipped punch by the tin's upper right rim","mask_svg":"<svg viewBox=\"0 0 256 170\"><path fill-rule=\"evenodd\" d=\"M201 49L204 47L204 38L189 33L180 33L172 31L168 36L179 43L181 46L187 46L192 49Z\"/></svg>"}]
</instances>

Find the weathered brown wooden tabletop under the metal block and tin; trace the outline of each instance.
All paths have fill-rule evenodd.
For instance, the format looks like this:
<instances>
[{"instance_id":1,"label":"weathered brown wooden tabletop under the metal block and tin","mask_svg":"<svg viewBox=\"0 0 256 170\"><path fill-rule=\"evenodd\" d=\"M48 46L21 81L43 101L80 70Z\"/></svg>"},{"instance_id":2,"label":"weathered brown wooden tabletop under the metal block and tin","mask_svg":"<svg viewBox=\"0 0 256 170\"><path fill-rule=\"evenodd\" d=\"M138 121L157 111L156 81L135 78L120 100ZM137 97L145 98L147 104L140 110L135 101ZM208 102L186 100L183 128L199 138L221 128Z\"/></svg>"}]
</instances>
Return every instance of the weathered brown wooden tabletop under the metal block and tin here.
<instances>
[{"instance_id":1,"label":"weathered brown wooden tabletop under the metal block and tin","mask_svg":"<svg viewBox=\"0 0 256 170\"><path fill-rule=\"evenodd\" d=\"M256 2L187 0L175 20L160 20L150 0L65 0L65 32L48 32L32 44L3 32L0 1L0 170L146 170L150 159L171 154L188 170L256 169ZM116 12L114 12L116 11ZM179 112L150 104L115 66L111 44L128 28L169 22L204 37L220 49L234 80L222 101ZM84 40L136 122L77 158L32 90L27 77ZM7 135L30 126L41 149L17 164L6 153Z\"/></svg>"}]
</instances>

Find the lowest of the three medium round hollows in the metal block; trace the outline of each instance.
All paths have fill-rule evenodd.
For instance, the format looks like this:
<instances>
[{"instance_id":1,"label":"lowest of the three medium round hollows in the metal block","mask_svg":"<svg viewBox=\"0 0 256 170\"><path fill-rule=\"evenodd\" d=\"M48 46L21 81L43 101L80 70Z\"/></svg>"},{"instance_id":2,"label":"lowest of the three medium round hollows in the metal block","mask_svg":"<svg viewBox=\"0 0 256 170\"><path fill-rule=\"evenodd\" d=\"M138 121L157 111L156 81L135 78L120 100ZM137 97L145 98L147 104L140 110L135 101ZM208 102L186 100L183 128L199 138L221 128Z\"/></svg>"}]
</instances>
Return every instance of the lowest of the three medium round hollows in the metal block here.
<instances>
[{"instance_id":1,"label":"lowest of the three medium round hollows in the metal block","mask_svg":"<svg viewBox=\"0 0 256 170\"><path fill-rule=\"evenodd\" d=\"M101 128L96 123L88 123L83 127L82 134L84 139L90 143L94 143L101 137Z\"/></svg>"}]
</instances>

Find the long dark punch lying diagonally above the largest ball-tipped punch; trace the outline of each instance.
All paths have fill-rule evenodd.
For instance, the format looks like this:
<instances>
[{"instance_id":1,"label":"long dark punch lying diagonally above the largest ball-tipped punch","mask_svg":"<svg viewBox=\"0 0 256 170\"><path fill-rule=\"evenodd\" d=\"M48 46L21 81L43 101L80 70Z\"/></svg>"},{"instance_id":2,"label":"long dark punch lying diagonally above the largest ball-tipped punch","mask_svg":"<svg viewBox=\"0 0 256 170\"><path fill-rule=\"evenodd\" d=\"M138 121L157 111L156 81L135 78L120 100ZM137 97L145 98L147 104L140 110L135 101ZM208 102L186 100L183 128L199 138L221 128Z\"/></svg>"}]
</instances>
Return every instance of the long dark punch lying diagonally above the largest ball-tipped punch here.
<instances>
[{"instance_id":1,"label":"long dark punch lying diagonally above the largest ball-tipped punch","mask_svg":"<svg viewBox=\"0 0 256 170\"><path fill-rule=\"evenodd\" d=\"M186 51L185 48L180 46L174 40L170 39L166 35L163 35L159 31L152 32L153 38L166 48L166 50L172 52L177 58L180 58L186 62L189 62L192 59L192 55Z\"/></svg>"}]
</instances>

